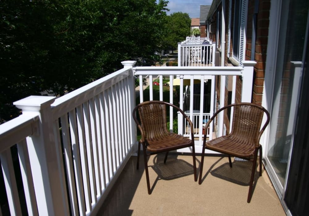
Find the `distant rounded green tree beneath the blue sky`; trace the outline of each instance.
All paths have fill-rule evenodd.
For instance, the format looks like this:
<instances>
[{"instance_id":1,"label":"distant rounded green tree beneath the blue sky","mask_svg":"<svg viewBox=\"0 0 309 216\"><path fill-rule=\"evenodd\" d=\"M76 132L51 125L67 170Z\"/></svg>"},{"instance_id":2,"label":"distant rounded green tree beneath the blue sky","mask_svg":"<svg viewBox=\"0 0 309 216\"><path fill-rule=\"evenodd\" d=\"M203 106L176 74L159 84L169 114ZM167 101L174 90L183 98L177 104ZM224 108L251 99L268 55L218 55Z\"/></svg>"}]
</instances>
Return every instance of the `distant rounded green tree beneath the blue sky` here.
<instances>
[{"instance_id":1,"label":"distant rounded green tree beneath the blue sky","mask_svg":"<svg viewBox=\"0 0 309 216\"><path fill-rule=\"evenodd\" d=\"M191 19L187 13L182 12L172 13L166 19L166 36L162 44L165 49L176 49L177 43L190 36Z\"/></svg>"}]
</instances>

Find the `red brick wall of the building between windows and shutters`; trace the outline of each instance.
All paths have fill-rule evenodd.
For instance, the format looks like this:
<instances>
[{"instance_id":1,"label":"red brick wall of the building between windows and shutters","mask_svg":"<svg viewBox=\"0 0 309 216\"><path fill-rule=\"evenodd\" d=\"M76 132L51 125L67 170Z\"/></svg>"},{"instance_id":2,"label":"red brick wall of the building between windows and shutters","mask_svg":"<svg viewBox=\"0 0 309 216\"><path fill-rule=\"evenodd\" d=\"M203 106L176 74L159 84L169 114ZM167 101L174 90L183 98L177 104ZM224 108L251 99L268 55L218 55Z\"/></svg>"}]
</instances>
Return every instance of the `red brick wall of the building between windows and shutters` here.
<instances>
[{"instance_id":1,"label":"red brick wall of the building between windows and shutters","mask_svg":"<svg viewBox=\"0 0 309 216\"><path fill-rule=\"evenodd\" d=\"M231 38L230 38L230 57L232 56L233 50L233 21L234 21L234 1L232 1L232 15L231 15ZM246 51L245 51L245 60L251 60L251 51L252 51L252 22L254 15L254 1L248 0L248 19L247 19L247 38L246 38ZM225 17L228 18L228 9L229 5L226 3L226 14ZM252 92L252 102L261 105L262 104L262 94L264 87L264 78L265 78L265 63L266 63L266 52L267 52L267 41L268 41L268 28L269 28L269 11L270 11L270 0L260 0L259 2L259 10L257 14L257 28L256 28L256 45L255 45L255 54L254 60L257 64L254 67L254 80L253 80L253 92ZM216 27L217 27L217 19L216 13L213 15L214 23L212 23L212 34L210 34L210 39L213 41L216 40ZM228 31L228 19L226 19L226 44L225 50L227 51L227 31ZM225 55L225 64L229 63L227 55ZM217 76L216 82L216 91L218 101L220 101L220 76ZM217 85L219 83L219 85ZM236 93L235 93L235 103L241 102L241 89L242 89L242 77L237 76L236 79ZM227 89L225 90L225 100L224 105L227 105ZM224 113L224 123L226 125L226 130L229 131L229 119L227 113Z\"/></svg>"}]
</instances>

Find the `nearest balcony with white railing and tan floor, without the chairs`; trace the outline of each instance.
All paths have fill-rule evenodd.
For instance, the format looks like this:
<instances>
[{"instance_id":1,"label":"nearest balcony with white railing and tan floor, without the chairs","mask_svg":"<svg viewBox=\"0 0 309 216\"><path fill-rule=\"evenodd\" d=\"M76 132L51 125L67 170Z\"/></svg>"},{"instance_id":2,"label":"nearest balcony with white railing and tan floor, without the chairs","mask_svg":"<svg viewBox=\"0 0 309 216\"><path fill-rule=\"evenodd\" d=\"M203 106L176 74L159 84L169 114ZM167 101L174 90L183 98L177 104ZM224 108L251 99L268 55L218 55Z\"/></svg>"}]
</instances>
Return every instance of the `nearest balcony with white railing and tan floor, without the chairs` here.
<instances>
[{"instance_id":1,"label":"nearest balcony with white railing and tan floor, without the chairs","mask_svg":"<svg viewBox=\"0 0 309 216\"><path fill-rule=\"evenodd\" d=\"M171 103L175 93L173 79L179 78L181 109L184 108L184 79L190 80L187 113L190 119L196 119L193 120L198 129L195 145L199 153L203 121L198 121L196 116L204 118L205 91L204 85L200 85L201 111L196 113L193 111L196 98L194 80L201 83L212 81L211 116L216 101L214 76L232 75L233 79L241 76L241 100L248 102L251 94L246 88L252 88L254 64L244 61L243 67L134 67L134 61L125 61L123 69L62 97L29 96L15 102L23 114L0 125L0 160L7 197L7 206L1 206L2 214L95 215L107 212L112 215L115 212L117 215L116 212L123 210L123 215L130 215L144 214L144 210L149 213L150 210L152 214L198 215L227 213L228 206L234 206L231 212L235 214L249 208L256 213L284 214L266 172L258 178L252 202L247 204L248 187L242 186L246 182L220 172L226 164L226 159L221 156L206 158L204 169L208 172L202 185L193 181L190 157L175 152L169 157L166 167L160 165L160 155L150 157L149 162L154 163L152 168L155 171L150 172L150 184L154 185L151 195L146 192L143 168L138 171L134 168L136 158L133 155L137 152L137 129L132 119L136 105L135 77L139 78L140 85L146 77L150 83L159 79L160 100L163 100L163 79L169 79L168 102ZM154 98L153 92L150 85L150 100ZM221 91L221 98L224 98L224 93ZM232 98L235 94L234 86ZM139 101L142 102L143 98L144 92L140 88ZM169 115L172 130L177 114L170 110ZM218 135L223 133L223 116L219 116L216 128ZM185 131L183 118L178 118L178 132L184 134ZM214 126L210 131L214 131ZM212 133L209 139L212 139ZM190 149L180 152L189 154ZM176 158L180 159L180 163L175 163L180 166L178 170L173 163ZM197 160L199 162L200 158ZM236 167L237 164L244 166L243 162L234 163ZM18 171L14 168L16 164L20 166ZM227 178L230 180L226 181ZM173 181L167 181L171 179ZM119 201L112 203L114 197Z\"/></svg>"}]
</instances>

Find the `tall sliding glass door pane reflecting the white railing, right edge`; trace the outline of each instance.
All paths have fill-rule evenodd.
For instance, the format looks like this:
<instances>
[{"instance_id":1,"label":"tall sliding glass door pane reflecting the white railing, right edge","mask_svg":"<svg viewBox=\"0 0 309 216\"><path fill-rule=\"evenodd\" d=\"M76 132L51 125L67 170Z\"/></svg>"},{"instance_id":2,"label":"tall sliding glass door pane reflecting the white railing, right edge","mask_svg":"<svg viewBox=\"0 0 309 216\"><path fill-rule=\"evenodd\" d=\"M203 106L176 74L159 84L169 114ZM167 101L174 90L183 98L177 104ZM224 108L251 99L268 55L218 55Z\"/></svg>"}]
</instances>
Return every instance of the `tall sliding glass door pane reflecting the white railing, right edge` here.
<instances>
[{"instance_id":1,"label":"tall sliding glass door pane reflecting the white railing, right edge","mask_svg":"<svg viewBox=\"0 0 309 216\"><path fill-rule=\"evenodd\" d=\"M309 1L283 0L267 159L285 184L301 79Z\"/></svg>"}]
</instances>

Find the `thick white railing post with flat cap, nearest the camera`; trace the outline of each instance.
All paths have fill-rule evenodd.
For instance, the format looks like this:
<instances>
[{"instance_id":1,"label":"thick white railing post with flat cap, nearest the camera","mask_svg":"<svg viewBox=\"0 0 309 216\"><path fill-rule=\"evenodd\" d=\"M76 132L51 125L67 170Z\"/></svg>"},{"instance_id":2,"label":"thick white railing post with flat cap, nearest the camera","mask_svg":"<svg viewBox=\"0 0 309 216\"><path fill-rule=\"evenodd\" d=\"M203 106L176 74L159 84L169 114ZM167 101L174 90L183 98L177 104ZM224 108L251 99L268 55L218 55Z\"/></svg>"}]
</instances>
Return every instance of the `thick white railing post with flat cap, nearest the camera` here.
<instances>
[{"instance_id":1,"label":"thick white railing post with flat cap, nearest the camera","mask_svg":"<svg viewBox=\"0 0 309 216\"><path fill-rule=\"evenodd\" d=\"M69 215L65 181L53 133L51 104L55 97L29 96L13 104L23 115L36 113L39 131L27 137L29 159L39 215ZM60 159L60 160L59 160Z\"/></svg>"}]
</instances>

